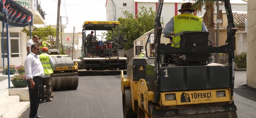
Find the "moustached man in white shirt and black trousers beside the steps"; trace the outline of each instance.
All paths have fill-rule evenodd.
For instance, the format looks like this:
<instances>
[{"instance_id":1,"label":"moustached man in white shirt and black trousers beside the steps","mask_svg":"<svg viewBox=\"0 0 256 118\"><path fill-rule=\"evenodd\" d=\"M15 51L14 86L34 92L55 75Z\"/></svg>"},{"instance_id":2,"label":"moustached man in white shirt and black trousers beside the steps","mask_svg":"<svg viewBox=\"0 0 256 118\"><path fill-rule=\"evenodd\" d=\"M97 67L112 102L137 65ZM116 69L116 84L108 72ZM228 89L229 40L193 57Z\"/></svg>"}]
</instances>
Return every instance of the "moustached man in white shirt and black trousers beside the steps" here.
<instances>
[{"instance_id":1,"label":"moustached man in white shirt and black trousers beside the steps","mask_svg":"<svg viewBox=\"0 0 256 118\"><path fill-rule=\"evenodd\" d=\"M30 118L43 118L37 115L40 94L42 89L42 77L45 75L43 65L39 59L41 51L39 44L32 44L31 52L25 59L25 75L28 82L30 96Z\"/></svg>"}]
</instances>

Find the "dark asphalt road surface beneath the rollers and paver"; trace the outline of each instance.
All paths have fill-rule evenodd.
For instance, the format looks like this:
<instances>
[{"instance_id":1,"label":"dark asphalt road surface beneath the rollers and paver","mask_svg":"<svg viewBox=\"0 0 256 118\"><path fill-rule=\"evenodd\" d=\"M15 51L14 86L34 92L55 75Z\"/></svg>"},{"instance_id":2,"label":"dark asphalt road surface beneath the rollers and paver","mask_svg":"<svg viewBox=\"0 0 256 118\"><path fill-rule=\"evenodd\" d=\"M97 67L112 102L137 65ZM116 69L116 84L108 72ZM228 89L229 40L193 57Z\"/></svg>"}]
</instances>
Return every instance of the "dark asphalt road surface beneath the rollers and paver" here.
<instances>
[{"instance_id":1,"label":"dark asphalt road surface beneath the rollers and paver","mask_svg":"<svg viewBox=\"0 0 256 118\"><path fill-rule=\"evenodd\" d=\"M246 72L236 72L234 101L238 118L256 118L256 89L247 87ZM79 76L77 90L56 91L40 103L45 118L122 118L120 76ZM28 118L29 108L21 118Z\"/></svg>"}]
</instances>

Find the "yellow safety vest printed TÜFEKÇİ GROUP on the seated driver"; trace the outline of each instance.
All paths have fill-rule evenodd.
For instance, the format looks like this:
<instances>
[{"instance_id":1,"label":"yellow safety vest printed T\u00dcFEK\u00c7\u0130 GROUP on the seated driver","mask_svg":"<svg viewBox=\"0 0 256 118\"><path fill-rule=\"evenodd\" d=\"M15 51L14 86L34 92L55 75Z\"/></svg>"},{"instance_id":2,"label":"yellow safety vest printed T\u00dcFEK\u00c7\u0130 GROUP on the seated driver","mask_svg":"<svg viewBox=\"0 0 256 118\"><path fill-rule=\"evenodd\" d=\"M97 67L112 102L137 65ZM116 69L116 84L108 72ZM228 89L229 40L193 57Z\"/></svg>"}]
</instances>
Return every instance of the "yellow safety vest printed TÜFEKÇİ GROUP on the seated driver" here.
<instances>
[{"instance_id":1,"label":"yellow safety vest printed T\u00dcFEK\u00c7\u0130 GROUP on the seated driver","mask_svg":"<svg viewBox=\"0 0 256 118\"><path fill-rule=\"evenodd\" d=\"M202 18L190 13L184 13L174 16L174 37L173 47L180 47L180 35L184 31L202 31Z\"/></svg>"}]
</instances>

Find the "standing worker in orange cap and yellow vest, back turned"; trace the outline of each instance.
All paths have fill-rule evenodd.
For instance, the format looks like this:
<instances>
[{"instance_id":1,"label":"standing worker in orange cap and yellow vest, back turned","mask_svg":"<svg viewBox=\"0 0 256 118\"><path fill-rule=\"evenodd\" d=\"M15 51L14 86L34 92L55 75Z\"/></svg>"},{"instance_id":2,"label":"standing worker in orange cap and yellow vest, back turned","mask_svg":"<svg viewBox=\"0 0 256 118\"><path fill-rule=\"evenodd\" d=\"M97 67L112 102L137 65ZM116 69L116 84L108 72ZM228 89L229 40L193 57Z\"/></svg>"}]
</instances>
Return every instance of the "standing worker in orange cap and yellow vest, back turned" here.
<instances>
[{"instance_id":1,"label":"standing worker in orange cap and yellow vest, back turned","mask_svg":"<svg viewBox=\"0 0 256 118\"><path fill-rule=\"evenodd\" d=\"M43 87L45 85L45 89L43 88L41 91L41 99L42 101L48 102L52 101L51 95L52 95L52 80L51 80L51 74L53 73L54 69L54 63L52 61L52 57L48 55L46 52L48 52L47 47L42 48L42 53L39 55L39 59L43 65L45 76L43 76Z\"/></svg>"}]
</instances>

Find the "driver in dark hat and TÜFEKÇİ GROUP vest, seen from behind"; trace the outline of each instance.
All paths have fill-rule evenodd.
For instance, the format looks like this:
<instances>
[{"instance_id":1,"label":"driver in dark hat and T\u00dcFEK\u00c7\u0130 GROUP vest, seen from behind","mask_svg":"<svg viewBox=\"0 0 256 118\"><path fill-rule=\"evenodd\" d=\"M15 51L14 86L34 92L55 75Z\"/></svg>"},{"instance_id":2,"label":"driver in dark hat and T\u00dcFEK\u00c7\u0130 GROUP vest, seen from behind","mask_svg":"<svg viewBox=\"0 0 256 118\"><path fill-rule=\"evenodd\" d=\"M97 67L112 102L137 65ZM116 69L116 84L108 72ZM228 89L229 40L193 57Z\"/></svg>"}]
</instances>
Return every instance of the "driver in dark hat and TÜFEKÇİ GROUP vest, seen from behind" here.
<instances>
[{"instance_id":1,"label":"driver in dark hat and T\u00dcFEK\u00c7\u0130 GROUP vest, seen from behind","mask_svg":"<svg viewBox=\"0 0 256 118\"><path fill-rule=\"evenodd\" d=\"M187 2L182 4L181 9L178 10L181 14L176 15L165 25L163 35L169 37L173 34L173 41L171 46L180 47L180 35L184 31L207 31L202 18L192 14L195 9L192 8L192 3Z\"/></svg>"}]
</instances>

